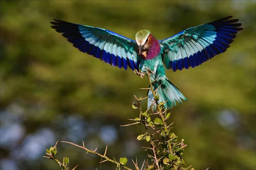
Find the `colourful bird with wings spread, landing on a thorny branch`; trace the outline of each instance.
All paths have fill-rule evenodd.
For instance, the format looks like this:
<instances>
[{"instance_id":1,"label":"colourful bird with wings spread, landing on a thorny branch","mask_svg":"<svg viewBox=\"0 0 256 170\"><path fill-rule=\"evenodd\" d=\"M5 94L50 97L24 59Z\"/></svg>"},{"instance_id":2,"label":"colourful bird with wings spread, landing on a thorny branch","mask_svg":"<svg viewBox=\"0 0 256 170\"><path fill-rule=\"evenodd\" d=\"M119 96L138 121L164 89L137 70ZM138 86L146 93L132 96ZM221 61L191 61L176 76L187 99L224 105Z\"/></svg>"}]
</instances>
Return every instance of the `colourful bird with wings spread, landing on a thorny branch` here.
<instances>
[{"instance_id":1,"label":"colourful bird with wings spread, landing on a thorny branch","mask_svg":"<svg viewBox=\"0 0 256 170\"><path fill-rule=\"evenodd\" d=\"M158 40L147 29L140 30L135 40L107 29L53 19L52 29L62 33L79 51L92 55L119 69L130 68L140 75L151 70L150 80L163 102L172 109L176 101L187 101L180 90L166 77L166 70L195 68L226 52L238 32L243 31L239 19L228 16L188 28L171 37ZM141 70L141 72L139 72ZM147 75L148 76L148 75ZM148 108L156 109L154 96L148 90Z\"/></svg>"}]
</instances>

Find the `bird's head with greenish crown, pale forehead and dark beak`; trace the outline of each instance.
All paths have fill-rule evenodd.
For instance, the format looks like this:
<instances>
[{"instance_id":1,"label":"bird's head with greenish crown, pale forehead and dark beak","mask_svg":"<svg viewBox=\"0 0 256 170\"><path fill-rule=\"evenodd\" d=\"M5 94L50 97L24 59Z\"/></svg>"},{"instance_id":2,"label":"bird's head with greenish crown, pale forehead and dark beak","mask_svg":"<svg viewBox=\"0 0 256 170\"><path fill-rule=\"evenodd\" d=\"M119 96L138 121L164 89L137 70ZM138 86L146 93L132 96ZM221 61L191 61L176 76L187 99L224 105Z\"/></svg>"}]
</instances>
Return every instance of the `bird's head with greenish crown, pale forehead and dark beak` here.
<instances>
[{"instance_id":1,"label":"bird's head with greenish crown, pale forehead and dark beak","mask_svg":"<svg viewBox=\"0 0 256 170\"><path fill-rule=\"evenodd\" d=\"M147 57L147 50L149 48L148 45L148 36L150 35L150 31L147 29L140 30L136 34L136 43L138 45L139 55L142 54L144 57Z\"/></svg>"}]
</instances>

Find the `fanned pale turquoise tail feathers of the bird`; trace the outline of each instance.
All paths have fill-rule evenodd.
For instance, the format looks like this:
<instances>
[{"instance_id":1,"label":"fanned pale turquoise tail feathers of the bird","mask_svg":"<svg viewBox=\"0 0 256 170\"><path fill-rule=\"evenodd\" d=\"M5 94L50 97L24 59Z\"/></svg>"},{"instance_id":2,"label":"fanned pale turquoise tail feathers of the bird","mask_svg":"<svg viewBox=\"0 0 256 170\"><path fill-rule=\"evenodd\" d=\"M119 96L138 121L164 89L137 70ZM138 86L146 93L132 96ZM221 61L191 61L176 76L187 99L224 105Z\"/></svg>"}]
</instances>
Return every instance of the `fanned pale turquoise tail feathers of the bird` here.
<instances>
[{"instance_id":1,"label":"fanned pale turquoise tail feathers of the bird","mask_svg":"<svg viewBox=\"0 0 256 170\"><path fill-rule=\"evenodd\" d=\"M157 89L160 85L155 83L153 84L154 90ZM159 103L166 102L164 104L164 108L172 109L173 106L176 106L176 101L179 103L182 103L181 99L187 101L187 99L184 97L184 95L180 92L180 90L172 84L171 81L169 81L166 78L166 81L163 82L163 84L160 86L160 88L156 92L159 96ZM151 90L148 91L148 107L151 107L154 101L154 96L151 92ZM176 101L175 101L176 100ZM156 104L154 104L153 109L156 109Z\"/></svg>"}]
</instances>

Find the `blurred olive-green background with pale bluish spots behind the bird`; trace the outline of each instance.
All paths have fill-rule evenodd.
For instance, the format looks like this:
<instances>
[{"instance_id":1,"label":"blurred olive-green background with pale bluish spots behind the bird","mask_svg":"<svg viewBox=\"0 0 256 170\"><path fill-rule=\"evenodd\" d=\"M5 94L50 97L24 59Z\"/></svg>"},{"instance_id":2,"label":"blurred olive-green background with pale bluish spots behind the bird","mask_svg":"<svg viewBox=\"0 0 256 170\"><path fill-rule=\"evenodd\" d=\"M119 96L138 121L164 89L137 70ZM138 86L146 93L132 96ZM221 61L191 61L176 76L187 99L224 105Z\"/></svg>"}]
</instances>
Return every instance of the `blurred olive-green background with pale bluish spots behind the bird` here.
<instances>
[{"instance_id":1,"label":"blurred olive-green background with pale bluish spots behind the bird","mask_svg":"<svg viewBox=\"0 0 256 170\"><path fill-rule=\"evenodd\" d=\"M133 95L148 81L79 52L50 27L52 18L159 39L234 15L243 24L224 54L195 69L166 72L187 102L171 110L185 139L183 158L198 170L256 169L256 1L0 1L0 168L60 169L42 158L57 140L98 147L119 159L146 158L135 140L143 127L120 127L138 115ZM146 103L143 105L146 109ZM68 144L58 156L77 169L114 169Z\"/></svg>"}]
</instances>

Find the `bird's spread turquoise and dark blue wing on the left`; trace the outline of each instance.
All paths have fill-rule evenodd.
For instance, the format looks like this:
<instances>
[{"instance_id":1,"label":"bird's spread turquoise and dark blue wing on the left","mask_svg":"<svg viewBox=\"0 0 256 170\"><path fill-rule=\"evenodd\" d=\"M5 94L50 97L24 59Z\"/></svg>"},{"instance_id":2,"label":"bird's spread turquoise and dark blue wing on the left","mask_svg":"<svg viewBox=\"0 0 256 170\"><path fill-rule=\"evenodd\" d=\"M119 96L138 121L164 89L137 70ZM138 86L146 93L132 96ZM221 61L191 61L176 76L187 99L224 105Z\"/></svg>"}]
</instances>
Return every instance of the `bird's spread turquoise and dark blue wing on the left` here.
<instances>
[{"instance_id":1,"label":"bird's spread turquoise and dark blue wing on the left","mask_svg":"<svg viewBox=\"0 0 256 170\"><path fill-rule=\"evenodd\" d=\"M54 19L55 20L55 19ZM137 54L136 42L106 29L69 23L62 20L50 22L56 32L81 52L86 52L112 66L125 70L139 70L140 57Z\"/></svg>"}]
</instances>

